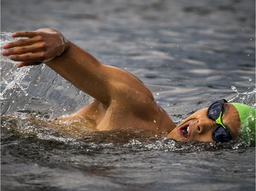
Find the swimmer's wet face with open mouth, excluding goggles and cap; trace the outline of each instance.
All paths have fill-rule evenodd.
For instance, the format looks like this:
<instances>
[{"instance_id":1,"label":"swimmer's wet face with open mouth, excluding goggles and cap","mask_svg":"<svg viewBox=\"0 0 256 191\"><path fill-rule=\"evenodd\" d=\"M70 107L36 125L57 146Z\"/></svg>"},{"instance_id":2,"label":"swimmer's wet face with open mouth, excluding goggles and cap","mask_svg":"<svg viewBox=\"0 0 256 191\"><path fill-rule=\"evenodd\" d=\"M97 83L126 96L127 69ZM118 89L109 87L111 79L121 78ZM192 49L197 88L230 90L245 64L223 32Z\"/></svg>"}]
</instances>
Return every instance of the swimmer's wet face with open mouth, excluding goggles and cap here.
<instances>
[{"instance_id":1,"label":"swimmer's wet face with open mouth, excluding goggles and cap","mask_svg":"<svg viewBox=\"0 0 256 191\"><path fill-rule=\"evenodd\" d=\"M207 109L200 109L191 116L188 116L181 124L176 126L168 138L176 141L214 141L212 133L216 126L216 122L207 116ZM238 137L238 128L240 126L239 114L236 107L230 103L224 104L223 116L221 118L223 124L229 128L232 139Z\"/></svg>"}]
</instances>

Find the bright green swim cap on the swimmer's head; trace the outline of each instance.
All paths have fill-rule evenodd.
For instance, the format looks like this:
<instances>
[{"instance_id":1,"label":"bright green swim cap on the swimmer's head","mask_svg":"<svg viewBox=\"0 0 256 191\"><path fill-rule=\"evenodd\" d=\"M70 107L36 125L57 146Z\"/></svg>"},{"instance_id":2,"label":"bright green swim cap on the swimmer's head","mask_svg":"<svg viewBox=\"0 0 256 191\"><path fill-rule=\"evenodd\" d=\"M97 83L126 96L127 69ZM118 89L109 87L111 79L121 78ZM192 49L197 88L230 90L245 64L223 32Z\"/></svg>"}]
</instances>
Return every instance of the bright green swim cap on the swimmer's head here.
<instances>
[{"instance_id":1,"label":"bright green swim cap on the swimmer's head","mask_svg":"<svg viewBox=\"0 0 256 191\"><path fill-rule=\"evenodd\" d=\"M231 103L238 110L242 140L255 146L255 109L243 103Z\"/></svg>"}]
</instances>

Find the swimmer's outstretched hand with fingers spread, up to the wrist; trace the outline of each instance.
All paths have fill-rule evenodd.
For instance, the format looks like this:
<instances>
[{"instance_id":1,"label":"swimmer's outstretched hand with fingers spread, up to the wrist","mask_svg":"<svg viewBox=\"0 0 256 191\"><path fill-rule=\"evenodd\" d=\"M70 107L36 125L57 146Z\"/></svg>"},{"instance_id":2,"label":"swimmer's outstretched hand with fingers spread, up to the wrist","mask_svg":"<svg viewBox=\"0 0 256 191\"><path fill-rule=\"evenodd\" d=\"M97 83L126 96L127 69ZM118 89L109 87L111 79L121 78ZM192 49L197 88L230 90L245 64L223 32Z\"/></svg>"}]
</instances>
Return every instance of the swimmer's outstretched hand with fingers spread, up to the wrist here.
<instances>
[{"instance_id":1,"label":"swimmer's outstretched hand with fingers spread, up to the wrist","mask_svg":"<svg viewBox=\"0 0 256 191\"><path fill-rule=\"evenodd\" d=\"M18 67L40 65L62 54L68 48L68 41L55 29L20 31L12 37L26 37L3 45L1 54L19 61Z\"/></svg>"}]
</instances>

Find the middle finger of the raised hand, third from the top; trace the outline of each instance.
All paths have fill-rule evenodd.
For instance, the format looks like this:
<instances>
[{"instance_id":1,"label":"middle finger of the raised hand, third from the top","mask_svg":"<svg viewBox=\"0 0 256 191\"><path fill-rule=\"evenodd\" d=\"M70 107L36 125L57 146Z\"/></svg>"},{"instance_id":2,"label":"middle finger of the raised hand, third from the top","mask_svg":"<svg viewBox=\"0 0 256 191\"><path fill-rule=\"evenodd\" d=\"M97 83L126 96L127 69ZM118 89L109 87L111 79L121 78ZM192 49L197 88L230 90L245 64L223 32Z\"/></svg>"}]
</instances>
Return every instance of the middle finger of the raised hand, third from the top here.
<instances>
[{"instance_id":1,"label":"middle finger of the raised hand, third from the top","mask_svg":"<svg viewBox=\"0 0 256 191\"><path fill-rule=\"evenodd\" d=\"M45 50L46 44L45 43L40 43L40 44L35 44L31 46L22 46L18 48L12 48L10 50L3 50L1 53L3 56L10 56L10 55L15 55L15 54L27 54L30 52L38 52L40 50Z\"/></svg>"}]
</instances>

